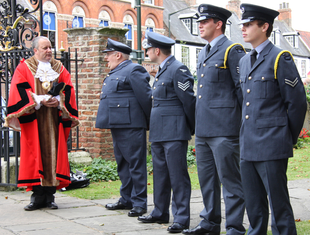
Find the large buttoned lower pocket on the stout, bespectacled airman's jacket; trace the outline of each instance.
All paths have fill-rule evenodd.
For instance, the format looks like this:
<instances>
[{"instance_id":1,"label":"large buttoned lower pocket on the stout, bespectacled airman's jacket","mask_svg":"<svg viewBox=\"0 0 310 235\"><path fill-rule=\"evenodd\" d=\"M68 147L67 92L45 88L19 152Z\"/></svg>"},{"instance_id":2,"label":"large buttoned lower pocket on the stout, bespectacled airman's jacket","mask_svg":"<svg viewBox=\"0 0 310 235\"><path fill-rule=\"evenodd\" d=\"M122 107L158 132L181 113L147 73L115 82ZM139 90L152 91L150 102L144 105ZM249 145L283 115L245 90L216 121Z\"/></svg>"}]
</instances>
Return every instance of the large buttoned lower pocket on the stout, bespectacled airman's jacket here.
<instances>
[{"instance_id":1,"label":"large buttoned lower pocket on the stout, bespectacled airman's jacket","mask_svg":"<svg viewBox=\"0 0 310 235\"><path fill-rule=\"evenodd\" d=\"M129 99L109 99L109 124L130 124Z\"/></svg>"}]
</instances>

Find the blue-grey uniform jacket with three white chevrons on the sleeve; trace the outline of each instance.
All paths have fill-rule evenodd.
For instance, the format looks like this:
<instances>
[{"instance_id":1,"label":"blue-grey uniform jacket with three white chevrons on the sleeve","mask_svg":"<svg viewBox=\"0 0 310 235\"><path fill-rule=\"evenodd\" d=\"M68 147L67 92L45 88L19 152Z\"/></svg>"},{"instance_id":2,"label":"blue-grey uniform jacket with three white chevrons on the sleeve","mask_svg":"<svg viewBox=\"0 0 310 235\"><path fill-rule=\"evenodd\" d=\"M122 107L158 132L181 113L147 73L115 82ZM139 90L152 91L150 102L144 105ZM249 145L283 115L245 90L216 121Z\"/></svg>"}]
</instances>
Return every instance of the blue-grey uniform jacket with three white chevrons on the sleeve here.
<instances>
[{"instance_id":1,"label":"blue-grey uniform jacket with three white chevrons on the sleeve","mask_svg":"<svg viewBox=\"0 0 310 235\"><path fill-rule=\"evenodd\" d=\"M156 74L149 141L190 140L195 129L194 80L189 69L172 56Z\"/></svg>"}]
</instances>

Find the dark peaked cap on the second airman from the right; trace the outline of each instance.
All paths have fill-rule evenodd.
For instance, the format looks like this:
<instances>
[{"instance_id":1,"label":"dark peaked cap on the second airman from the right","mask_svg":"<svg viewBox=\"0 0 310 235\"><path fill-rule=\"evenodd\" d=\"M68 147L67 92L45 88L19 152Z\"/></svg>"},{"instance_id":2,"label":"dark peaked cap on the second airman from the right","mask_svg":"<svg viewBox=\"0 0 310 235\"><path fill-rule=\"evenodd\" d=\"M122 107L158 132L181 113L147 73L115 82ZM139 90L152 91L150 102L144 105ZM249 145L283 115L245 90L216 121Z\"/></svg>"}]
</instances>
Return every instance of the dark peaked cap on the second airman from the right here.
<instances>
[{"instance_id":1,"label":"dark peaked cap on the second airman from the right","mask_svg":"<svg viewBox=\"0 0 310 235\"><path fill-rule=\"evenodd\" d=\"M197 22L201 20L206 20L209 18L219 18L224 22L227 21L229 17L231 17L232 12L226 10L222 7L210 5L210 4L201 4L198 7L198 11L200 13L200 17Z\"/></svg>"}]
</instances>

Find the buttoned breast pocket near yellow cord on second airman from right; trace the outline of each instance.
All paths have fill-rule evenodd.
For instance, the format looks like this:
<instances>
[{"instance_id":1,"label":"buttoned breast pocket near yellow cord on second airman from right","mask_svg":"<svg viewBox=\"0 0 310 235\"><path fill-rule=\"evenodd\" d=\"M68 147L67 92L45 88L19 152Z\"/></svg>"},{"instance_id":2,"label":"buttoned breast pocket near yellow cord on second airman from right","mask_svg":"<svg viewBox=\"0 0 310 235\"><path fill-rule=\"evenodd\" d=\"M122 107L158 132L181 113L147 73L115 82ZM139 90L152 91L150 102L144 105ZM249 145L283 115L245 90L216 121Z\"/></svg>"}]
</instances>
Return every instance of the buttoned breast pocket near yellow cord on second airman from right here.
<instances>
[{"instance_id":1,"label":"buttoned breast pocket near yellow cord on second airman from right","mask_svg":"<svg viewBox=\"0 0 310 235\"><path fill-rule=\"evenodd\" d=\"M210 83L224 83L226 76L229 75L229 69L224 69L224 60L212 60L208 64L207 79Z\"/></svg>"}]
</instances>

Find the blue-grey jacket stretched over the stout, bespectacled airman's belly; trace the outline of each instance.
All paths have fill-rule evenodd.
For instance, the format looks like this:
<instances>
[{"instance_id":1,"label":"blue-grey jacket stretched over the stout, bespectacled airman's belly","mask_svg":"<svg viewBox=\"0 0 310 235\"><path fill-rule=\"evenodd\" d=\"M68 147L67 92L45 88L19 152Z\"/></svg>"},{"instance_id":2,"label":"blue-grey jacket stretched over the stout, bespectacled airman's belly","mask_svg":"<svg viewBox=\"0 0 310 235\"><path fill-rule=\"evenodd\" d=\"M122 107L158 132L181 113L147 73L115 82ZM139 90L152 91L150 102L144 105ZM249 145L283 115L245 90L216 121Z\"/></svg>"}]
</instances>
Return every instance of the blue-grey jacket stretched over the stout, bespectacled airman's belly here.
<instances>
[{"instance_id":1,"label":"blue-grey jacket stretched over the stout, bespectacled airman's belly","mask_svg":"<svg viewBox=\"0 0 310 235\"><path fill-rule=\"evenodd\" d=\"M150 75L127 60L107 75L96 128L146 128L151 114Z\"/></svg>"}]
</instances>

